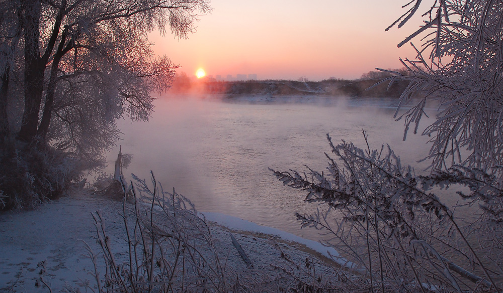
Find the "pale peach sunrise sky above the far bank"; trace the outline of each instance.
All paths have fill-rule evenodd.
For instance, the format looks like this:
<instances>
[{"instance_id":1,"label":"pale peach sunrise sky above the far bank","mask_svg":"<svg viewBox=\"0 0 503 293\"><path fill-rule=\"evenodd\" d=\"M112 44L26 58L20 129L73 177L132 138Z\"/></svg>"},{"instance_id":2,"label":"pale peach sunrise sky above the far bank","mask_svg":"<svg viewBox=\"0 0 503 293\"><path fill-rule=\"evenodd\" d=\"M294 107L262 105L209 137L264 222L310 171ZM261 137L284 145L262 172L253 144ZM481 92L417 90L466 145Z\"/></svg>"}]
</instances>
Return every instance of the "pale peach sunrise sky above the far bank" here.
<instances>
[{"instance_id":1,"label":"pale peach sunrise sky above the far bank","mask_svg":"<svg viewBox=\"0 0 503 293\"><path fill-rule=\"evenodd\" d=\"M407 2L212 0L213 11L200 16L188 39L158 32L149 38L156 54L165 54L181 66L177 72L191 76L203 68L214 77L354 79L376 67L400 68L399 57L415 57L410 45L397 44L418 29L420 16L384 31L406 12L401 6Z\"/></svg>"}]
</instances>

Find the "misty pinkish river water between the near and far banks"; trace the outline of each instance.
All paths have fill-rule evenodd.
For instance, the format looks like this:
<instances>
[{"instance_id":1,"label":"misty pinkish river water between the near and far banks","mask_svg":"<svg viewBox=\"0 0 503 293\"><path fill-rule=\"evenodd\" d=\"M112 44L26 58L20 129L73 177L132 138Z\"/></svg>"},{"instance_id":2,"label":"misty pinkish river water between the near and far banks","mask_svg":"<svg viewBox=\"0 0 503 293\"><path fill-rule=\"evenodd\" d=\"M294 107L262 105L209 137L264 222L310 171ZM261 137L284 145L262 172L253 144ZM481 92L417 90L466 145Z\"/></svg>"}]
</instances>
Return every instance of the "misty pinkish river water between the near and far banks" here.
<instances>
[{"instance_id":1,"label":"misty pinkish river water between the near and far banks","mask_svg":"<svg viewBox=\"0 0 503 293\"><path fill-rule=\"evenodd\" d=\"M389 144L402 164L421 173L428 163L427 137L409 133L393 119L396 100L345 98L161 96L149 122L119 121L122 152L133 161L124 175L149 178L150 170L165 191L173 188L199 211L219 212L301 237L317 240L313 229L300 230L295 212L311 213L318 205L303 202L302 192L284 187L268 168L323 171L330 152L326 133L366 148ZM427 121L422 121L423 127ZM109 170L119 147L108 155Z\"/></svg>"}]
</instances>

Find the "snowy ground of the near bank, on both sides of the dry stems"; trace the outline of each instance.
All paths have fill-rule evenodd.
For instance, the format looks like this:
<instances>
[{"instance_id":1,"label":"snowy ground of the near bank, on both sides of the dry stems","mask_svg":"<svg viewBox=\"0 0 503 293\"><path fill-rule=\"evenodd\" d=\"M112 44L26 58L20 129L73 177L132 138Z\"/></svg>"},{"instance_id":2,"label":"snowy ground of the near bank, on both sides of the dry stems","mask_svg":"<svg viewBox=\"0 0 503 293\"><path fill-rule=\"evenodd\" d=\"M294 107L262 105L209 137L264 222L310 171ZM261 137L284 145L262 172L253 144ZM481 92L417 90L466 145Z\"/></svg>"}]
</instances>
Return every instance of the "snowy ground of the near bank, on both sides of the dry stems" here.
<instances>
[{"instance_id":1,"label":"snowy ground of the near bank, on both sides of the dry stems","mask_svg":"<svg viewBox=\"0 0 503 293\"><path fill-rule=\"evenodd\" d=\"M52 292L76 287L82 280L93 280L93 264L87 257L85 243L94 252L100 251L91 215L97 210L105 219L116 254L126 255L122 203L117 201L73 192L69 197L43 204L34 211L0 214L0 292L48 292L40 282L41 272ZM338 265L322 255L327 253L326 248L317 243L304 242L278 230L219 214L207 214L207 218L228 226L212 224L212 235L220 251L228 257L227 265L239 274L267 276L274 274L273 267L279 265L300 275L306 273L306 258L312 256L316 276L322 276L330 286L338 286L341 279ZM229 231L254 263L252 270L246 268L232 245ZM292 240L304 242L311 248Z\"/></svg>"}]
</instances>

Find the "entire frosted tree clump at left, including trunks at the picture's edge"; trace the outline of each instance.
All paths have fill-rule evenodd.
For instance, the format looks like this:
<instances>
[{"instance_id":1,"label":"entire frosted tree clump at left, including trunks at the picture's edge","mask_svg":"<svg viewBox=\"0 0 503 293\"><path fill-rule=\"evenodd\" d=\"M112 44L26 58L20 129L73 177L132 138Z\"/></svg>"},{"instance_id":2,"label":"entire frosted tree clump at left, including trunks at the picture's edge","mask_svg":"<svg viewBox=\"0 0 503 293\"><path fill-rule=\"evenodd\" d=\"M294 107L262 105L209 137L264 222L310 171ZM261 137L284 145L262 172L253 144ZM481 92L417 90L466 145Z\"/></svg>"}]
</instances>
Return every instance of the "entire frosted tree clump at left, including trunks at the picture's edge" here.
<instances>
[{"instance_id":1,"label":"entire frosted tree clump at left, including trunks at the picture's edge","mask_svg":"<svg viewBox=\"0 0 503 293\"><path fill-rule=\"evenodd\" d=\"M2 162L23 149L98 164L118 139L115 121L148 119L151 93L171 87L176 66L154 56L148 33L186 38L210 9L209 0L0 0Z\"/></svg>"}]
</instances>

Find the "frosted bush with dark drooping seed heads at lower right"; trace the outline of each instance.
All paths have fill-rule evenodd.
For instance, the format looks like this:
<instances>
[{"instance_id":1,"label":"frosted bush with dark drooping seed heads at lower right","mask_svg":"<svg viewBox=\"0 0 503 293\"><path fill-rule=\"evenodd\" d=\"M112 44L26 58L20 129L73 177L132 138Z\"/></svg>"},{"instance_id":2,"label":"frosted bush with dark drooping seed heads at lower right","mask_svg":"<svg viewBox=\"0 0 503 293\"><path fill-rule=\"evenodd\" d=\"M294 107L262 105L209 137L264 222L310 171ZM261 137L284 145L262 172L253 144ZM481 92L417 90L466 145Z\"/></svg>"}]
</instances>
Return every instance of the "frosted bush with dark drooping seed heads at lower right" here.
<instances>
[{"instance_id":1,"label":"frosted bush with dark drooping seed heads at lower right","mask_svg":"<svg viewBox=\"0 0 503 293\"><path fill-rule=\"evenodd\" d=\"M361 149L327 138L336 156L326 155L327 174L311 169L274 174L305 191L306 202L327 206L313 215L296 214L297 219L303 227L323 230L324 243L368 276L371 291L501 288L501 211L493 207L503 193L492 177L462 167L417 177L389 147ZM481 230L465 230L462 219L431 192L434 186L456 183L470 187L465 197L481 203L482 217L492 224L482 221L476 227ZM468 240L470 231L477 232L478 243Z\"/></svg>"}]
</instances>

